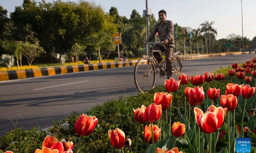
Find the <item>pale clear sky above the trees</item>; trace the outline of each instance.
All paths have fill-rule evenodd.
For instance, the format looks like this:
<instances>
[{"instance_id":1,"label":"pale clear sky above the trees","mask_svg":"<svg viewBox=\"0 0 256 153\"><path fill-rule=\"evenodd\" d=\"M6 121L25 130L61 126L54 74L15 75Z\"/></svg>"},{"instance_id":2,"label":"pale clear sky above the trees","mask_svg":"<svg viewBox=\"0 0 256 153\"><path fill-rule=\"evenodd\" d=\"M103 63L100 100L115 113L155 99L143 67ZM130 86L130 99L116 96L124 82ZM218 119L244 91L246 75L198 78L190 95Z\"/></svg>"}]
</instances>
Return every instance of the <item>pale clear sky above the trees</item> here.
<instances>
[{"instance_id":1,"label":"pale clear sky above the trees","mask_svg":"<svg viewBox=\"0 0 256 153\"><path fill-rule=\"evenodd\" d=\"M35 0L41 2L42 0ZM78 0L62 0L64 2L78 2ZM216 39L227 38L229 34L235 33L250 40L256 36L256 0L243 0L243 28L241 0L87 0L101 5L105 12L114 6L120 16L130 18L132 10L143 14L148 8L152 10L156 20L158 11L164 9L167 12L167 20L182 27L197 29L204 21L214 21L213 28L217 30ZM0 0L0 5L8 11L13 12L15 6L21 6L23 0ZM53 0L45 0L46 3Z\"/></svg>"}]
</instances>

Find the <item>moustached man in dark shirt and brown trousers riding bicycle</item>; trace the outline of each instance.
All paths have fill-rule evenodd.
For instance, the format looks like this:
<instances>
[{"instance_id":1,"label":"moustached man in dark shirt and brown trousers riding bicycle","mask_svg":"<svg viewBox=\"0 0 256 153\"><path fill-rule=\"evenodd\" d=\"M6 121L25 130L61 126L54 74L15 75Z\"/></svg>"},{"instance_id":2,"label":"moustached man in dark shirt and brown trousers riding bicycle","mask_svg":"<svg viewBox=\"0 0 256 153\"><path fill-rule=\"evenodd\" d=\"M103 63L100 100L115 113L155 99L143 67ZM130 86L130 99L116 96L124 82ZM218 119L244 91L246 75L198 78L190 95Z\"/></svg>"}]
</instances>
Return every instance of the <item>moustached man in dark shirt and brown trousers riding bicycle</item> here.
<instances>
[{"instance_id":1,"label":"moustached man in dark shirt and brown trousers riding bicycle","mask_svg":"<svg viewBox=\"0 0 256 153\"><path fill-rule=\"evenodd\" d=\"M166 60L166 71L167 71L167 79L169 80L172 77L172 52L175 46L174 38L173 38L173 22L170 20L166 20L166 11L161 10L158 12L160 22L156 23L152 32L148 36L148 39L144 42L149 42L158 32L160 41L164 42L163 46L156 44L154 45L154 50L161 50L165 53ZM158 64L161 65L164 60L158 52L154 52L154 57L158 61Z\"/></svg>"}]
</instances>

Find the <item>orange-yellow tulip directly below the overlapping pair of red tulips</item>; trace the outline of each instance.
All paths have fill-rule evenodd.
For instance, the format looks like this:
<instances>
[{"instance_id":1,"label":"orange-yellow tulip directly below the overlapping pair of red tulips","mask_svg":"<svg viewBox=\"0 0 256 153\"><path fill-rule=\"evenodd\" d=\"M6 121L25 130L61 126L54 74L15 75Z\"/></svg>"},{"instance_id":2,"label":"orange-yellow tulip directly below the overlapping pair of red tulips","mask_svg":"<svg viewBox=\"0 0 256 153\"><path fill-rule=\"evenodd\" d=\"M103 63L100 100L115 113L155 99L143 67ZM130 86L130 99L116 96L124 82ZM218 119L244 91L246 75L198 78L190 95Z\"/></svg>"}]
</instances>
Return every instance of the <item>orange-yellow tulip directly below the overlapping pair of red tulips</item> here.
<instances>
[{"instance_id":1,"label":"orange-yellow tulip directly below the overlapping pair of red tulips","mask_svg":"<svg viewBox=\"0 0 256 153\"><path fill-rule=\"evenodd\" d=\"M153 135L154 135L154 143L156 143L161 135L161 128L158 128L157 125L153 125ZM144 128L144 140L149 144L152 144L151 124L149 124L149 126L146 125Z\"/></svg>"}]
</instances>

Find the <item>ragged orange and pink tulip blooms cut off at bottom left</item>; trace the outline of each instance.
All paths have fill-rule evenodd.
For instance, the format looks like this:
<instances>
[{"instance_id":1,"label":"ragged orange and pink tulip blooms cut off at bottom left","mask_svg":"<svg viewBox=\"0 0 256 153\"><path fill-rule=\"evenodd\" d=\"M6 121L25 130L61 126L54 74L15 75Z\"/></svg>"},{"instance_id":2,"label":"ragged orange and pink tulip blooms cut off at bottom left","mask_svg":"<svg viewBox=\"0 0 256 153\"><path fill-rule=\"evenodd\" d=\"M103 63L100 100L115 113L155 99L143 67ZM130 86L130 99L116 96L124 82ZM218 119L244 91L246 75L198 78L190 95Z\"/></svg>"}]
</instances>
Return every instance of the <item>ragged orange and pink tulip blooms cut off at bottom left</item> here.
<instances>
[{"instance_id":1,"label":"ragged orange and pink tulip blooms cut off at bottom left","mask_svg":"<svg viewBox=\"0 0 256 153\"><path fill-rule=\"evenodd\" d=\"M55 137L47 135L44 138L44 142L42 145L42 150L36 149L35 153L73 153L73 142L67 142L65 139L62 139L61 142Z\"/></svg>"}]
</instances>

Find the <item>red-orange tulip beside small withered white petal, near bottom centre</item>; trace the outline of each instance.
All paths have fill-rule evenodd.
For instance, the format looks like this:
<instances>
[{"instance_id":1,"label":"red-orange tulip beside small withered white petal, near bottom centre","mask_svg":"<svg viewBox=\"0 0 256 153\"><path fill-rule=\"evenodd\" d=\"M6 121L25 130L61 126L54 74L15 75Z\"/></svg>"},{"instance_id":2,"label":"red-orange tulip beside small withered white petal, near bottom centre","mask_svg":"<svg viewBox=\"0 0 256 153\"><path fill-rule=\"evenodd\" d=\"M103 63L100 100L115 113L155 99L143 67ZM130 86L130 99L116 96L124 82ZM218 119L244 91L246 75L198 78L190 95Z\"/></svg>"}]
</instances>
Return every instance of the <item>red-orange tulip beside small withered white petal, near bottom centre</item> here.
<instances>
[{"instance_id":1,"label":"red-orange tulip beside small withered white petal, near bottom centre","mask_svg":"<svg viewBox=\"0 0 256 153\"><path fill-rule=\"evenodd\" d=\"M122 130L116 128L115 130L108 130L108 137L112 146L116 149L124 147L125 135Z\"/></svg>"}]
</instances>

